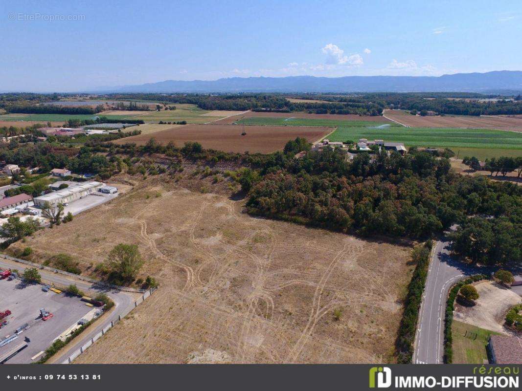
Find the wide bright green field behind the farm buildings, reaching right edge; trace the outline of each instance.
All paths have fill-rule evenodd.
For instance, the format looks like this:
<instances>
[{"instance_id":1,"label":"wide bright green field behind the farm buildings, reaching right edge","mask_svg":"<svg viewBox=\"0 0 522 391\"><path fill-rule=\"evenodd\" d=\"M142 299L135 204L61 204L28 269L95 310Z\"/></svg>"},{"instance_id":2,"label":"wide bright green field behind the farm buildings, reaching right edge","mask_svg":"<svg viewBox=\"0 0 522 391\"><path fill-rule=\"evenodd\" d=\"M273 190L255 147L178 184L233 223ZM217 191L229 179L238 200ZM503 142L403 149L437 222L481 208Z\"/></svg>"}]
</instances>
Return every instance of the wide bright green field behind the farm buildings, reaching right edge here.
<instances>
[{"instance_id":1,"label":"wide bright green field behind the farm buildings, reaching right edge","mask_svg":"<svg viewBox=\"0 0 522 391\"><path fill-rule=\"evenodd\" d=\"M406 146L431 146L434 148L447 147L455 152L457 152L459 148L472 149L482 157L499 155L512 156L517 153L518 155L522 154L522 133L504 130L403 127L376 129L367 127L339 127L334 133L328 136L330 141L357 141L360 138L402 142ZM506 151L506 153L503 151Z\"/></svg>"}]
</instances>

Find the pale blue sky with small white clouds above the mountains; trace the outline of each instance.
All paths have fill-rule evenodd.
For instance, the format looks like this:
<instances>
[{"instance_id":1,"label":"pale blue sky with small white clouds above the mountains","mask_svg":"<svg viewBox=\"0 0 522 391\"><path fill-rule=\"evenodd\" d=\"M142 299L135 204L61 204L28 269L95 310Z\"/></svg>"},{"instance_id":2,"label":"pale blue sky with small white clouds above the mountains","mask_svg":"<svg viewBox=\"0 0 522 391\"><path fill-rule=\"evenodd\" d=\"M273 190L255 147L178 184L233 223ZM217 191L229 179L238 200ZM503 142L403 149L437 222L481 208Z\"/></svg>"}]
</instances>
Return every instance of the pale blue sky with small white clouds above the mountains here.
<instances>
[{"instance_id":1,"label":"pale blue sky with small white clouds above the mountains","mask_svg":"<svg viewBox=\"0 0 522 391\"><path fill-rule=\"evenodd\" d=\"M0 18L1 91L522 69L518 0L3 0Z\"/></svg>"}]
</instances>

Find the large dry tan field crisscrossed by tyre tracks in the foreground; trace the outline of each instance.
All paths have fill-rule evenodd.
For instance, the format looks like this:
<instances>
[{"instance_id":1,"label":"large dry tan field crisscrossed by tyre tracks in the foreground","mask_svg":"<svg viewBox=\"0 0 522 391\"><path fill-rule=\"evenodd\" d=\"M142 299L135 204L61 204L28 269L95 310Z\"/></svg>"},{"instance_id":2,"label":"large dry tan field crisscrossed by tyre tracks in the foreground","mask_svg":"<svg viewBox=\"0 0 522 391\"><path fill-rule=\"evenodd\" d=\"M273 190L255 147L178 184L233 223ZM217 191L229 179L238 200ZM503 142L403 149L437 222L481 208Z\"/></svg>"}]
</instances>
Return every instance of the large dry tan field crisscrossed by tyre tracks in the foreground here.
<instances>
[{"instance_id":1,"label":"large dry tan field crisscrossed by tyre tracks in the foreground","mask_svg":"<svg viewBox=\"0 0 522 391\"><path fill-rule=\"evenodd\" d=\"M85 273L135 243L160 288L77 363L393 361L410 248L241 213L156 179L19 246Z\"/></svg>"}]
</instances>

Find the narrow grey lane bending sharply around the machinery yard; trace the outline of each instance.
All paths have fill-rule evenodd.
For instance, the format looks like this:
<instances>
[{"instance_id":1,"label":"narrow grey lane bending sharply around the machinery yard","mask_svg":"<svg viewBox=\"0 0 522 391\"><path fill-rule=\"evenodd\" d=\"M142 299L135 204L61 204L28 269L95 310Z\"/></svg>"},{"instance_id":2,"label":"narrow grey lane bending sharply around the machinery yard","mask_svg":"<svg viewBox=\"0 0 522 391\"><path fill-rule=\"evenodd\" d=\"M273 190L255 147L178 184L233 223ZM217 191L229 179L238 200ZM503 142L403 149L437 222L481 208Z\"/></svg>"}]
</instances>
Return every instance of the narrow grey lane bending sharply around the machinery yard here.
<instances>
[{"instance_id":1,"label":"narrow grey lane bending sharply around the machinery yard","mask_svg":"<svg viewBox=\"0 0 522 391\"><path fill-rule=\"evenodd\" d=\"M18 269L20 272L25 270L26 267L31 267L29 265L25 265L22 263L17 263L13 261L9 261L6 259L0 258L0 268L6 269ZM130 310L134 308L134 301L137 299L139 294L133 294L131 292L124 292L117 289L111 289L101 285L91 284L86 281L77 280L73 278L69 278L62 274L51 273L45 270L40 270L40 274L42 279L48 283L54 283L60 286L68 286L70 284L76 284L76 286L87 292L90 292L91 295L96 296L99 292L105 292L113 301L114 307L109 313L109 316L103 317L101 322L96 325L96 327L92 328L88 333L81 333L77 338L71 341L70 344L67 345L67 348L63 350L63 352L58 353L55 357L53 357L56 362L61 362L65 360L68 356L72 355L72 353L78 349L80 346L85 345L89 339L91 339L94 335L99 333L101 329L106 326L109 322L117 319L118 315L125 310ZM56 336L60 335L64 330L57 330ZM60 358L60 360L58 360Z\"/></svg>"}]
</instances>

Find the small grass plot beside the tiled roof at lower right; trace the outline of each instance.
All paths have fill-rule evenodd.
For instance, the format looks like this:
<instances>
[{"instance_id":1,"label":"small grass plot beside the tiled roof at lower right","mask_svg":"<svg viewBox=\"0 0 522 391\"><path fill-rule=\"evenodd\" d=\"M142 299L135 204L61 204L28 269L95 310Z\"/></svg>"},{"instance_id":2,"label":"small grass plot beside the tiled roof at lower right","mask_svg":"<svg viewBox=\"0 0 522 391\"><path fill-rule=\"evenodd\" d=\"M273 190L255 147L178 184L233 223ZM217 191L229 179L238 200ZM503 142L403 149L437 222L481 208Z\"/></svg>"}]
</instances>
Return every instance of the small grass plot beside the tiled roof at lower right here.
<instances>
[{"instance_id":1,"label":"small grass plot beside the tiled roof at lower right","mask_svg":"<svg viewBox=\"0 0 522 391\"><path fill-rule=\"evenodd\" d=\"M453 363L483 364L488 362L486 345L490 335L500 335L494 331L467 323L453 321Z\"/></svg>"}]
</instances>

